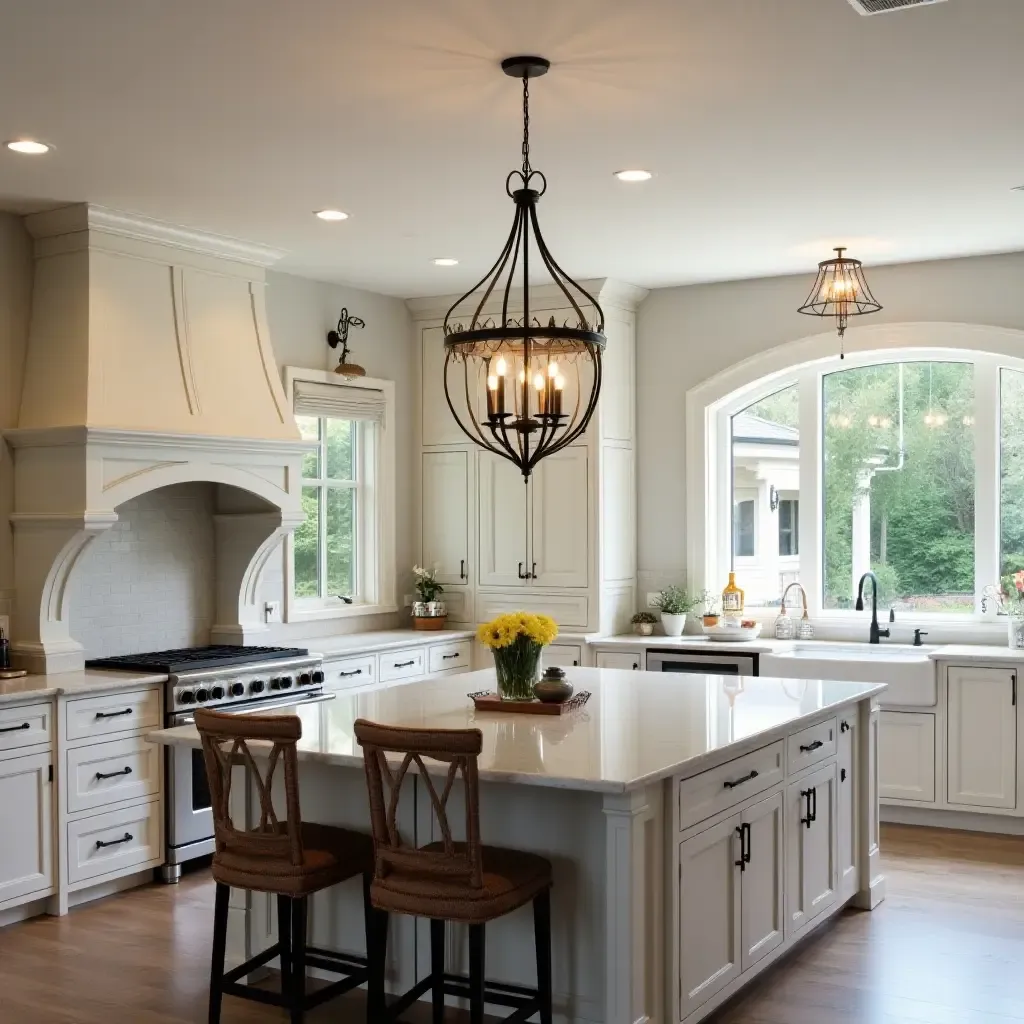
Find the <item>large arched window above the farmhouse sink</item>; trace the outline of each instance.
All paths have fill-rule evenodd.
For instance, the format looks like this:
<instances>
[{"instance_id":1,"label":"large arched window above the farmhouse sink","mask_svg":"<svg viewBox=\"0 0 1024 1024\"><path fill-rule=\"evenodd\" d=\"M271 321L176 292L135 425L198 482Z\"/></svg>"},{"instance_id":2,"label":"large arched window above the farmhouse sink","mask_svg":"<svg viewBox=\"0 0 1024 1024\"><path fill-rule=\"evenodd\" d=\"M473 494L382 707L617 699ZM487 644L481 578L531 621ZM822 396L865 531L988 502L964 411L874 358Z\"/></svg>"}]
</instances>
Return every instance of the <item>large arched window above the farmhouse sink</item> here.
<instances>
[{"instance_id":1,"label":"large arched window above the farmhouse sink","mask_svg":"<svg viewBox=\"0 0 1024 1024\"><path fill-rule=\"evenodd\" d=\"M691 586L734 569L768 617L799 582L841 618L870 570L897 616L995 614L985 588L1024 569L1024 360L891 344L757 369L687 396Z\"/></svg>"}]
</instances>

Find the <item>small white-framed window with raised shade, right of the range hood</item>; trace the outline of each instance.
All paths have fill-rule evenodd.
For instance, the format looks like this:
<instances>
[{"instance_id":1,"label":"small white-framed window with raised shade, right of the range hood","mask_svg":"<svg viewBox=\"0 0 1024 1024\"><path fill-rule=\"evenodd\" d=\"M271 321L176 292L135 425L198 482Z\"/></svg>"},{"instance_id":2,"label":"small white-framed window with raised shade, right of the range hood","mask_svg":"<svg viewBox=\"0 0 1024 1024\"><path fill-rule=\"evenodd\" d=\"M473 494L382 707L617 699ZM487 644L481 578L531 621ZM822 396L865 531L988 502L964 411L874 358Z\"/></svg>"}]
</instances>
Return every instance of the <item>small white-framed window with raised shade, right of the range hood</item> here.
<instances>
[{"instance_id":1,"label":"small white-framed window with raised shade, right of the range hood","mask_svg":"<svg viewBox=\"0 0 1024 1024\"><path fill-rule=\"evenodd\" d=\"M289 369L304 521L289 542L290 620L393 610L393 385Z\"/></svg>"}]
</instances>

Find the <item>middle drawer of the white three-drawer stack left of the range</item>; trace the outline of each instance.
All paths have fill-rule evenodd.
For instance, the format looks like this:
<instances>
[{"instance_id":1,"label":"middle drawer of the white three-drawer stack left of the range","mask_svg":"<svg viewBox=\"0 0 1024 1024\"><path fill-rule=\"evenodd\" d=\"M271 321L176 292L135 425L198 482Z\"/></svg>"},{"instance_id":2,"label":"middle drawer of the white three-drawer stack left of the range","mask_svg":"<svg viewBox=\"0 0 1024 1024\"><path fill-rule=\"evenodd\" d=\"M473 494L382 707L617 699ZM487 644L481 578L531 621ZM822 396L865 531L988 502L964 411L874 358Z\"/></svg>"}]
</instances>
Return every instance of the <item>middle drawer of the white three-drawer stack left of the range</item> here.
<instances>
[{"instance_id":1,"label":"middle drawer of the white three-drawer stack left of the range","mask_svg":"<svg viewBox=\"0 0 1024 1024\"><path fill-rule=\"evenodd\" d=\"M156 796L162 750L141 736L70 750L65 780L68 813Z\"/></svg>"}]
</instances>

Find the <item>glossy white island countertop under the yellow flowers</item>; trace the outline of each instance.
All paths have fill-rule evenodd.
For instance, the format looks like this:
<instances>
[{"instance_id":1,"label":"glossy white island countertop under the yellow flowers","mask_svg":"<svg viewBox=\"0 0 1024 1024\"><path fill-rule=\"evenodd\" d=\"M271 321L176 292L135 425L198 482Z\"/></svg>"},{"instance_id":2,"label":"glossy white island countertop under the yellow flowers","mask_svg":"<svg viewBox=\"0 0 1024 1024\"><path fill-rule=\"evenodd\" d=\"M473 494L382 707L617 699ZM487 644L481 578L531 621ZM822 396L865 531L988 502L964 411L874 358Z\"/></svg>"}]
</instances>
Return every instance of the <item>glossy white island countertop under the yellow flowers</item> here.
<instances>
[{"instance_id":1,"label":"glossy white island countertop under the yellow flowers","mask_svg":"<svg viewBox=\"0 0 1024 1024\"><path fill-rule=\"evenodd\" d=\"M467 694L493 690L493 670L395 684L297 710L299 760L362 767L353 723L483 732L480 777L599 793L624 793L680 771L721 764L779 739L802 721L885 690L880 683L728 676L671 676L573 669L592 696L558 718L478 713ZM150 733L151 741L199 745L194 726ZM254 744L258 745L258 744Z\"/></svg>"}]
</instances>

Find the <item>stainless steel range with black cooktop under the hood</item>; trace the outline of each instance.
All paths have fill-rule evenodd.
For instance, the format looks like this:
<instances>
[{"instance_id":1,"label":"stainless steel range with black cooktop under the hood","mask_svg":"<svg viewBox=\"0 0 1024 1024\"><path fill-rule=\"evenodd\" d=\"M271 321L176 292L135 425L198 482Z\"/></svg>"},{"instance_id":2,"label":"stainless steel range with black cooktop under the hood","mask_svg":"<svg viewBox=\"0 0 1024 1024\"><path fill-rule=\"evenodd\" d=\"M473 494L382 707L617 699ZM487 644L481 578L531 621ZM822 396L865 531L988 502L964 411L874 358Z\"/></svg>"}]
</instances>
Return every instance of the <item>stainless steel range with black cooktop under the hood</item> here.
<instances>
[{"instance_id":1,"label":"stainless steel range with black cooktop under the hood","mask_svg":"<svg viewBox=\"0 0 1024 1024\"><path fill-rule=\"evenodd\" d=\"M153 672L168 677L164 723L189 725L197 708L245 714L330 700L319 655L301 647L186 647L86 662L89 669ZM213 813L202 751L166 752L167 850L162 873L177 882L181 865L213 853Z\"/></svg>"}]
</instances>

